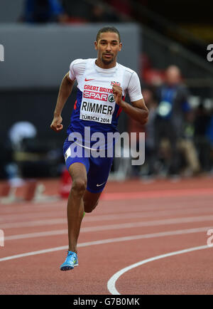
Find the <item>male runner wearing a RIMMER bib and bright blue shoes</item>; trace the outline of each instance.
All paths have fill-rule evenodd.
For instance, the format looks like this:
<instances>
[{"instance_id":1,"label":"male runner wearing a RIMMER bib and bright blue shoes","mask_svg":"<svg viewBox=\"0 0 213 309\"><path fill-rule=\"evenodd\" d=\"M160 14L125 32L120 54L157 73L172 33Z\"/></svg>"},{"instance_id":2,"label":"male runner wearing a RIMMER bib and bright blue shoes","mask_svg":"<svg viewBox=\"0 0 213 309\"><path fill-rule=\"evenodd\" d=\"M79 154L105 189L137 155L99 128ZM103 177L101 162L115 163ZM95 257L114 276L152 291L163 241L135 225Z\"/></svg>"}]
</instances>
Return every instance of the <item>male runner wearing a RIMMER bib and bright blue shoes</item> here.
<instances>
[{"instance_id":1,"label":"male runner wearing a RIMMER bib and bright blue shoes","mask_svg":"<svg viewBox=\"0 0 213 309\"><path fill-rule=\"evenodd\" d=\"M68 271L78 265L77 239L82 217L84 211L91 212L97 206L113 160L113 157L87 157L86 152L94 145L94 142L88 140L87 132L102 132L106 137L107 133L116 132L121 110L142 124L147 122L148 109L141 94L138 75L116 62L121 46L120 34L116 28L100 29L94 42L97 59L72 61L70 71L60 85L50 125L55 132L62 130L62 108L77 80L77 100L67 130L68 135L76 138L73 142L67 137L63 147L66 167L72 177L72 188L67 202L69 248L65 263L60 266L61 271ZM122 99L127 91L131 105ZM82 141L79 140L79 133ZM82 145L82 155L72 155L73 143ZM106 149L107 145L104 147Z\"/></svg>"}]
</instances>

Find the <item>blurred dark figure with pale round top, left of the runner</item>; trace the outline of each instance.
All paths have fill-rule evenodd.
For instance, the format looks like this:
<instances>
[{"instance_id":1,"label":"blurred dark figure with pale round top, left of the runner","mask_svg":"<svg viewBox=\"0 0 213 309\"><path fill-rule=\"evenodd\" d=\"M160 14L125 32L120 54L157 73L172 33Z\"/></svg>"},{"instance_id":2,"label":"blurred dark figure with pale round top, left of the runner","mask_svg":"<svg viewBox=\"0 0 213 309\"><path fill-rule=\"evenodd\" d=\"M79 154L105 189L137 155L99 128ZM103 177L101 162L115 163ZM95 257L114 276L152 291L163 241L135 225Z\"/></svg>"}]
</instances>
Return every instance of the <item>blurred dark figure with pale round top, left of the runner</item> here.
<instances>
[{"instance_id":1,"label":"blurred dark figure with pale round top, left of the runner","mask_svg":"<svg viewBox=\"0 0 213 309\"><path fill-rule=\"evenodd\" d=\"M31 122L14 123L8 137L6 150L10 156L4 170L12 185L21 185L26 177L58 176L64 166L61 148L55 141L39 137Z\"/></svg>"}]
</instances>

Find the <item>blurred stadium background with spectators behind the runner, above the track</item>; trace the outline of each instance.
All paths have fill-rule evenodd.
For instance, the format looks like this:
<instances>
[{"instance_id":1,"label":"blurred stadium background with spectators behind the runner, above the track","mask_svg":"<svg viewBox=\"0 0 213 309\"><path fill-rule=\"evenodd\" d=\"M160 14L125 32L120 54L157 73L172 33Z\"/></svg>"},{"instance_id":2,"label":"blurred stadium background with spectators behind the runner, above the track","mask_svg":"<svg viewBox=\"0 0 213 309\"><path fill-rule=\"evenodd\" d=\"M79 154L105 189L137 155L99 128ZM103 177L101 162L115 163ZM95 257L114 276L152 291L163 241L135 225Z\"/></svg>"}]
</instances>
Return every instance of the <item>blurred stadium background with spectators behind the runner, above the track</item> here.
<instances>
[{"instance_id":1,"label":"blurred stadium background with spectators behind the runner, above the track","mask_svg":"<svg viewBox=\"0 0 213 309\"><path fill-rule=\"evenodd\" d=\"M119 119L120 132L146 132L145 163L116 158L109 180L212 176L212 1L0 0L0 8L1 182L61 179L77 89L56 134L60 83L72 60L96 58L96 34L106 25L119 29L118 61L138 73L149 109L145 127L124 112Z\"/></svg>"}]
</instances>

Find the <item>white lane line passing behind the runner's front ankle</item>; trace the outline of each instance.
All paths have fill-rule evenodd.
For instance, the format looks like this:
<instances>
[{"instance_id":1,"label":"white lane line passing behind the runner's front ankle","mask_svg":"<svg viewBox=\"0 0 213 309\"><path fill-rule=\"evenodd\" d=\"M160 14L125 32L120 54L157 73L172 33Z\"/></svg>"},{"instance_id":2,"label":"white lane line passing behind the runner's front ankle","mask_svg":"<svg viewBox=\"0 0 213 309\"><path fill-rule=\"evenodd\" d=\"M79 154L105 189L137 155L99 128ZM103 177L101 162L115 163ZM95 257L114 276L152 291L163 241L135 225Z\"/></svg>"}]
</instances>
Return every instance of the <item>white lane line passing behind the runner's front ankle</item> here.
<instances>
[{"instance_id":1,"label":"white lane line passing behind the runner's front ankle","mask_svg":"<svg viewBox=\"0 0 213 309\"><path fill-rule=\"evenodd\" d=\"M197 229L182 229L182 230L176 230L176 231L163 231L159 233L124 236L124 237L118 237L114 239L102 239L99 241L89 241L86 243L79 243L77 247L80 248L80 247L86 247L86 246L102 245L104 243L116 243L116 242L121 242L121 241L133 241L133 240L138 240L138 239L153 239L156 237L200 233L202 231L207 231L207 229L209 229L209 227L201 227ZM48 249L43 249L43 250L38 250L38 251L21 253L21 254L16 254L14 256L6 256L4 258L0 258L0 262L13 260L15 258L24 258L26 256L35 256L37 254L42 254L42 253L60 251L60 250L67 250L67 246L60 246L60 247L55 247L55 248L48 248Z\"/></svg>"}]
</instances>

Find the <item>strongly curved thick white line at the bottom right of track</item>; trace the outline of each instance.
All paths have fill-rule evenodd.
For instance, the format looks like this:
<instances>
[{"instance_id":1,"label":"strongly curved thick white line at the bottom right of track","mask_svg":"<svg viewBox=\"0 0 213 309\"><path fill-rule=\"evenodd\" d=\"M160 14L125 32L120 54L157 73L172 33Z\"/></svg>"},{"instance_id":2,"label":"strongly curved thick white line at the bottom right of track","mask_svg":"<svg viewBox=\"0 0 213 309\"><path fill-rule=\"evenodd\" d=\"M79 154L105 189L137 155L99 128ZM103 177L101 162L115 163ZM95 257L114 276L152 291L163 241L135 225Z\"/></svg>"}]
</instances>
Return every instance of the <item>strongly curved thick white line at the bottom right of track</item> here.
<instances>
[{"instance_id":1,"label":"strongly curved thick white line at the bottom right of track","mask_svg":"<svg viewBox=\"0 0 213 309\"><path fill-rule=\"evenodd\" d=\"M188 252L207 249L207 248L210 248L210 247L205 245L205 246L186 248L186 249L183 249L183 250L180 250L180 251L174 251L174 252L170 252L170 253L161 254L160 256L153 256L153 258L147 258L146 260L140 261L138 263L134 263L130 266L127 266L127 267L121 269L117 273L115 273L109 279L109 281L107 282L107 288L112 295L121 295L121 293L119 293L118 290L116 290L116 281L118 280L119 277L121 277L127 271L130 271L132 268L136 268L136 267L141 266L143 264L159 260L160 258L168 258L168 256L176 256L178 254L188 253Z\"/></svg>"}]
</instances>

